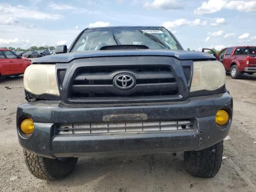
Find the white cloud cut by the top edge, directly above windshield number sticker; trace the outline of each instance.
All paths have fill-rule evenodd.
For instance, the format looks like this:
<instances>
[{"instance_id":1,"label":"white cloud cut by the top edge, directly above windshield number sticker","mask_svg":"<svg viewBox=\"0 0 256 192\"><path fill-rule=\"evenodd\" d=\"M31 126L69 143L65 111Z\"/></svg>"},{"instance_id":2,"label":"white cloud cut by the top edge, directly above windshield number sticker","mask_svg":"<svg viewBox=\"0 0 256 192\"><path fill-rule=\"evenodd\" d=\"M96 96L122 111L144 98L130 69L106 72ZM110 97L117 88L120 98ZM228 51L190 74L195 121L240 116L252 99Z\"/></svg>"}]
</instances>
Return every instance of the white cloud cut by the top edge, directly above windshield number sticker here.
<instances>
[{"instance_id":1,"label":"white cloud cut by the top edge, directly above windshield number sticker","mask_svg":"<svg viewBox=\"0 0 256 192\"><path fill-rule=\"evenodd\" d=\"M158 10L175 10L184 8L184 5L177 0L154 0L154 2L152 3L146 2L144 4L144 8Z\"/></svg>"}]
</instances>

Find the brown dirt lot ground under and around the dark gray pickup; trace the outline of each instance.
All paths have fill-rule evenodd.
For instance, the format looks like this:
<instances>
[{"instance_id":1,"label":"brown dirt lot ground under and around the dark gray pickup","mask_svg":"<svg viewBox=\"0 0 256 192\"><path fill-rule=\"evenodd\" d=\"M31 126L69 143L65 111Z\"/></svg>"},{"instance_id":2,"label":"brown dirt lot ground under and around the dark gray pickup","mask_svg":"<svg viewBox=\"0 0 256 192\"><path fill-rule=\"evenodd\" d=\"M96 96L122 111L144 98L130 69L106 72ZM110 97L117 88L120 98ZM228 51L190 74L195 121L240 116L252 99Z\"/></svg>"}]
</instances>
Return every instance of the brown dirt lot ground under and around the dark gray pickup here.
<instances>
[{"instance_id":1,"label":"brown dirt lot ground under and around the dark gray pickup","mask_svg":"<svg viewBox=\"0 0 256 192\"><path fill-rule=\"evenodd\" d=\"M80 158L67 178L44 181L27 170L18 143L16 107L26 102L23 76L0 79L0 191L255 192L256 75L240 80L227 76L226 86L234 98L234 117L231 139L224 141L227 158L215 178L190 176L180 153Z\"/></svg>"}]
</instances>

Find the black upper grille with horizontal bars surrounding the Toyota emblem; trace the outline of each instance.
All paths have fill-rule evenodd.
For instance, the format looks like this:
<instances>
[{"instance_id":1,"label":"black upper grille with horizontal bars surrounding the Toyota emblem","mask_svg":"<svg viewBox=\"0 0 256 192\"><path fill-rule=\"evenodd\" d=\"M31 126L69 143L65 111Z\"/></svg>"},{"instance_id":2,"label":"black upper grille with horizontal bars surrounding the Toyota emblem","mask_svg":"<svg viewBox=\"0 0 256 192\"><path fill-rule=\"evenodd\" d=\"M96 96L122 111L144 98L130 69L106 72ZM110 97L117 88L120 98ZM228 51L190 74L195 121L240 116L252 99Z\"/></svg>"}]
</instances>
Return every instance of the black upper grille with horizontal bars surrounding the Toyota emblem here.
<instances>
[{"instance_id":1,"label":"black upper grille with horizontal bars surrounding the Toyota emblem","mask_svg":"<svg viewBox=\"0 0 256 192\"><path fill-rule=\"evenodd\" d=\"M119 74L131 74L136 86L131 90L114 87ZM74 73L68 94L69 100L131 99L150 97L175 97L178 84L172 68L165 65L95 66L81 67Z\"/></svg>"}]
</instances>

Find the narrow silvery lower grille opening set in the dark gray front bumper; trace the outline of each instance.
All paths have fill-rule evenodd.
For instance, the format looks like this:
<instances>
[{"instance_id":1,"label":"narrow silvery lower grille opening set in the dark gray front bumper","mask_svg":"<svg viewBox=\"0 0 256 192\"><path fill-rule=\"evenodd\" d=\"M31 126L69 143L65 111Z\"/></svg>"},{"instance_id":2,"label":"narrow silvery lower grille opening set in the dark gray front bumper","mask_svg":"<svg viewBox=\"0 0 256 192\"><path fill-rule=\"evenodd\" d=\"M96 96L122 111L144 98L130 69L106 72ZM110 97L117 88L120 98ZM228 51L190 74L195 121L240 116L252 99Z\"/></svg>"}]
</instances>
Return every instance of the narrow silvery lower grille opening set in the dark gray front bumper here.
<instances>
[{"instance_id":1,"label":"narrow silvery lower grille opening set in the dark gray front bumper","mask_svg":"<svg viewBox=\"0 0 256 192\"><path fill-rule=\"evenodd\" d=\"M125 134L194 130L192 120L120 121L57 124L55 134Z\"/></svg>"}]
</instances>

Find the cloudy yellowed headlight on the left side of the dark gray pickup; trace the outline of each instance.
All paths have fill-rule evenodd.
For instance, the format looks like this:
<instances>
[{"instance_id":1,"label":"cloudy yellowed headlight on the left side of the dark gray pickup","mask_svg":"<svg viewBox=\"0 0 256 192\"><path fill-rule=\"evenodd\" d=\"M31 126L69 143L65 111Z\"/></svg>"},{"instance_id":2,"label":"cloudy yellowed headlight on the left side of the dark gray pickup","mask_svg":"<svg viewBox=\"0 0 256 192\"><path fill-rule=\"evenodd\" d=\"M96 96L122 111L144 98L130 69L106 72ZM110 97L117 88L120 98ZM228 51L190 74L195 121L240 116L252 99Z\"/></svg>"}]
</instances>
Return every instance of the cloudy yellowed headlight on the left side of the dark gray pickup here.
<instances>
[{"instance_id":1,"label":"cloudy yellowed headlight on the left side of the dark gray pickup","mask_svg":"<svg viewBox=\"0 0 256 192\"><path fill-rule=\"evenodd\" d=\"M55 75L55 65L32 64L24 73L24 88L28 92L41 95L60 95Z\"/></svg>"}]
</instances>

